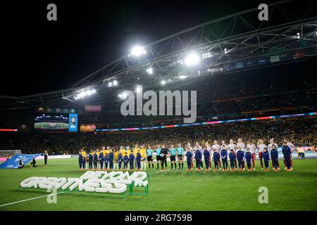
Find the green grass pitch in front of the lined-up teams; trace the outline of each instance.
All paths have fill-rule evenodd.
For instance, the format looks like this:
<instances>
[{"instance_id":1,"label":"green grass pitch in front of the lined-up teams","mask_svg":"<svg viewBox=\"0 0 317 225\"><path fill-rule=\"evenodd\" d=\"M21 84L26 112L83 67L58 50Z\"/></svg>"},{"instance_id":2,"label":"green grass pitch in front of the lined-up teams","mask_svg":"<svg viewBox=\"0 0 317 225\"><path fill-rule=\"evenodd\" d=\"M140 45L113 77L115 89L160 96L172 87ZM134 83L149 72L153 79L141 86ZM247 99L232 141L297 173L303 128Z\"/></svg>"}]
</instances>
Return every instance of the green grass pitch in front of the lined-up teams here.
<instances>
[{"instance_id":1,"label":"green grass pitch in front of the lined-up teams","mask_svg":"<svg viewBox=\"0 0 317 225\"><path fill-rule=\"evenodd\" d=\"M46 191L19 189L30 176L80 177L77 159L49 160L44 167L0 169L0 210L317 210L317 159L293 160L294 171L255 172L165 171L150 174L149 195L125 197L68 192L49 204ZM169 165L170 168L170 165ZM268 188L268 204L259 203L260 186ZM27 200L20 202L21 200ZM20 202L1 206L7 203Z\"/></svg>"}]
</instances>

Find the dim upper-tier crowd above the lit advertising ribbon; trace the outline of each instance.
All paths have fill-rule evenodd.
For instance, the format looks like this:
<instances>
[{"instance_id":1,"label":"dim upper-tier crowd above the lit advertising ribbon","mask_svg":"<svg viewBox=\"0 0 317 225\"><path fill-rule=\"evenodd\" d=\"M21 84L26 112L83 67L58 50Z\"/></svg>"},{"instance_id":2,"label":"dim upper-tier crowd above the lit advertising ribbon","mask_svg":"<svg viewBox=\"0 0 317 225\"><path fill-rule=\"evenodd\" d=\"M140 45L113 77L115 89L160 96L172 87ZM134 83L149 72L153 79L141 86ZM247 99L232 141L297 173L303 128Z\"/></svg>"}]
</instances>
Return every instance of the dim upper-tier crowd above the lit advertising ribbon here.
<instances>
[{"instance_id":1,"label":"dim upper-tier crowd above the lit advertising ribbon","mask_svg":"<svg viewBox=\"0 0 317 225\"><path fill-rule=\"evenodd\" d=\"M147 87L144 86L144 91L146 90ZM196 90L197 122L212 120L213 117L232 120L242 117L315 112L317 108L316 77L303 71L301 76L297 71L280 75L268 72L261 76L254 72L213 75L190 82L185 80L178 84L166 84L153 90L157 93L159 90ZM120 113L123 100L117 95L107 97L113 101L101 102L101 113L83 113L82 124L138 127L182 123L181 116L123 116Z\"/></svg>"}]
</instances>

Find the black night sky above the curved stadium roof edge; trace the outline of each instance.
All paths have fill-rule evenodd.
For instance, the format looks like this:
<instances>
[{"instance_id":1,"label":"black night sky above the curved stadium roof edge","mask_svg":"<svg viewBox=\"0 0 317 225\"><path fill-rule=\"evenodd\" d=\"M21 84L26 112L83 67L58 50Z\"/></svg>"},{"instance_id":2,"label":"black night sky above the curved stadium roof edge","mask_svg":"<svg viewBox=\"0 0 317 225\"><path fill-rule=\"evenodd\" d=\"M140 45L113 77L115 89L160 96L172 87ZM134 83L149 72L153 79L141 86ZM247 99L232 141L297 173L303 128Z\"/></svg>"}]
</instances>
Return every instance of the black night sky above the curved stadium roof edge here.
<instances>
[{"instance_id":1,"label":"black night sky above the curved stadium roof edge","mask_svg":"<svg viewBox=\"0 0 317 225\"><path fill-rule=\"evenodd\" d=\"M1 2L0 95L67 89L128 54L133 44L150 44L194 25L270 2ZM46 20L50 3L57 6L57 21Z\"/></svg>"}]
</instances>

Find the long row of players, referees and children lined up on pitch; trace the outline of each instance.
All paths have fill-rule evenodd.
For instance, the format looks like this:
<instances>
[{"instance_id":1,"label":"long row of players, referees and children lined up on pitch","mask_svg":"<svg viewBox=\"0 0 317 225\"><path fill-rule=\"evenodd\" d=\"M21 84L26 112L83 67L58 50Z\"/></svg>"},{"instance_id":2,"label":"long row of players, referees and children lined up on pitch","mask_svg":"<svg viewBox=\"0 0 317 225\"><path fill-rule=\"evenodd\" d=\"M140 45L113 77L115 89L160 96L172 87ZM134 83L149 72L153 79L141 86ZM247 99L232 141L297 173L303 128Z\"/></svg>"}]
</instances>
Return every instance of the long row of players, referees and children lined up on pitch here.
<instances>
[{"instance_id":1,"label":"long row of players, referees and children lined up on pitch","mask_svg":"<svg viewBox=\"0 0 317 225\"><path fill-rule=\"evenodd\" d=\"M80 169L147 169L146 161L148 162L149 169L154 169L154 156L156 156L156 169L167 169L167 158L170 158L171 169L173 167L177 169L176 162L178 161L178 169L184 168L184 159L187 162L187 171L193 169L193 161L196 161L196 169L201 170L206 166L206 171L211 169L211 162L213 161L214 170L221 169L221 163L223 164L223 170L228 170L228 158L230 161L230 170L244 171L244 162L247 162L248 171L255 170L256 153L259 153L259 160L261 163L261 169L269 169L269 160L272 160L273 170L280 170L278 162L278 145L274 143L274 139L270 139L268 146L263 143L263 140L259 139L255 145L252 141L249 141L245 145L242 139L237 140L237 144L230 139L230 143L227 145L225 141L221 141L221 145L218 141L214 141L210 146L208 142L205 146L200 146L196 142L196 146L192 148L190 143L187 143L185 150L182 148L181 143L178 143L178 148L174 148L170 145L170 148L166 146L156 146L156 149L152 149L151 146L144 146L139 148L135 145L135 148L130 149L130 146L124 148L120 146L120 149L114 148L112 150L109 146L107 148L102 147L102 150L90 150L86 153L84 149L79 152L79 166ZM284 139L282 145L282 154L285 169L287 171L292 170L292 150L294 145L288 140ZM147 159L147 160L145 160ZM177 160L176 160L177 159Z\"/></svg>"}]
</instances>

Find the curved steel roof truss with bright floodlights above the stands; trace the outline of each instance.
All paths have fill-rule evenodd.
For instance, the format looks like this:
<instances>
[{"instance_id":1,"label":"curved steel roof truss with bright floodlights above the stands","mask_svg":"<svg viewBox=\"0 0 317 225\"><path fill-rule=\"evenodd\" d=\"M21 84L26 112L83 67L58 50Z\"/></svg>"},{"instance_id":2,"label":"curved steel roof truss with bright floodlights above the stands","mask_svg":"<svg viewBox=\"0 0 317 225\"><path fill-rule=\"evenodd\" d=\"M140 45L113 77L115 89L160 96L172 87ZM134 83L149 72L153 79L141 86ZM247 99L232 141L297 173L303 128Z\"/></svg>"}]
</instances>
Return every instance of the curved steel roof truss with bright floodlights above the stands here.
<instances>
[{"instance_id":1,"label":"curved steel roof truss with bright floodlights above the stands","mask_svg":"<svg viewBox=\"0 0 317 225\"><path fill-rule=\"evenodd\" d=\"M316 56L316 1L280 1L268 6L268 21L259 20L258 8L211 20L144 46L147 54L139 58L128 54L118 58L70 89L32 96L0 96L0 108L75 105L75 94L87 87L96 89L96 98L100 98L109 91L119 93L136 84L150 88L162 80L175 82L180 76L213 75ZM187 67L183 60L192 52L201 57L201 62ZM148 68L153 70L151 75ZM113 80L119 85L108 87Z\"/></svg>"}]
</instances>

